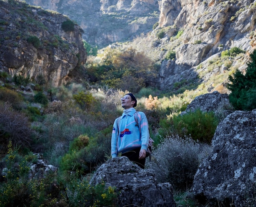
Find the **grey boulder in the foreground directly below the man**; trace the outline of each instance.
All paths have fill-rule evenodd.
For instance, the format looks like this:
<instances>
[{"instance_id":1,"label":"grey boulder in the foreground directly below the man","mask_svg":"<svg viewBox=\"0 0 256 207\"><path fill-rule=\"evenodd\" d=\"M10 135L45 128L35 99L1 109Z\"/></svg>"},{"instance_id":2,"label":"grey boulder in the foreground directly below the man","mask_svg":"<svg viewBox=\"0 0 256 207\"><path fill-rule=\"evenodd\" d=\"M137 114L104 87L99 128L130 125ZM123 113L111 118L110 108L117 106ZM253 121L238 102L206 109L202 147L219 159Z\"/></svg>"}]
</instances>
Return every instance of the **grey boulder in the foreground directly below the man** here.
<instances>
[{"instance_id":1,"label":"grey boulder in the foreground directly below the man","mask_svg":"<svg viewBox=\"0 0 256 207\"><path fill-rule=\"evenodd\" d=\"M141 169L127 157L116 157L101 165L90 183L102 181L120 192L119 206L175 207L170 183L157 183L153 170Z\"/></svg>"}]
</instances>

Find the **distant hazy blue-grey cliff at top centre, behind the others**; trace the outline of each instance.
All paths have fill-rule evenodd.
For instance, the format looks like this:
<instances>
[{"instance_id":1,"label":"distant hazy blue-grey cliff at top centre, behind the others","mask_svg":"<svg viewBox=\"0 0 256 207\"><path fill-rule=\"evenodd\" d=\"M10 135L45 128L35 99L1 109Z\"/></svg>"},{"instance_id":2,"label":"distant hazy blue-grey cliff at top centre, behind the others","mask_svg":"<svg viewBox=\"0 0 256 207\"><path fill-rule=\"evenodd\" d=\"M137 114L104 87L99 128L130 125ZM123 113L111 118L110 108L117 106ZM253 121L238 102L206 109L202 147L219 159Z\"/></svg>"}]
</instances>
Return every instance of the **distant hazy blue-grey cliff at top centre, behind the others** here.
<instances>
[{"instance_id":1,"label":"distant hazy blue-grey cliff at top centre, behind the others","mask_svg":"<svg viewBox=\"0 0 256 207\"><path fill-rule=\"evenodd\" d=\"M158 21L157 0L26 0L28 4L58 11L77 22L83 39L92 45L108 46L132 40L152 30Z\"/></svg>"}]
</instances>

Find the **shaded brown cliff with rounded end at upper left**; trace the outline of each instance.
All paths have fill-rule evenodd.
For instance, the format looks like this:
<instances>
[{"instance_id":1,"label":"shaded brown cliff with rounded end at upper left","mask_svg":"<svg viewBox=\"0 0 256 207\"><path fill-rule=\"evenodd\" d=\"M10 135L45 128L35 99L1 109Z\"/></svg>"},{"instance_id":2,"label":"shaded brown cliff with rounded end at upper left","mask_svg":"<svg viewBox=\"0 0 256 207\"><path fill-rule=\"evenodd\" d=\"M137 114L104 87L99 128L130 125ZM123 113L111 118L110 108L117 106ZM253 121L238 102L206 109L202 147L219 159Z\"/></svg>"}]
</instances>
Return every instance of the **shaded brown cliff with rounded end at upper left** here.
<instances>
[{"instance_id":1,"label":"shaded brown cliff with rounded end at upper left","mask_svg":"<svg viewBox=\"0 0 256 207\"><path fill-rule=\"evenodd\" d=\"M65 32L62 23L67 17L8 2L0 0L1 70L31 79L43 75L53 86L65 83L70 71L86 61L79 26Z\"/></svg>"}]
</instances>

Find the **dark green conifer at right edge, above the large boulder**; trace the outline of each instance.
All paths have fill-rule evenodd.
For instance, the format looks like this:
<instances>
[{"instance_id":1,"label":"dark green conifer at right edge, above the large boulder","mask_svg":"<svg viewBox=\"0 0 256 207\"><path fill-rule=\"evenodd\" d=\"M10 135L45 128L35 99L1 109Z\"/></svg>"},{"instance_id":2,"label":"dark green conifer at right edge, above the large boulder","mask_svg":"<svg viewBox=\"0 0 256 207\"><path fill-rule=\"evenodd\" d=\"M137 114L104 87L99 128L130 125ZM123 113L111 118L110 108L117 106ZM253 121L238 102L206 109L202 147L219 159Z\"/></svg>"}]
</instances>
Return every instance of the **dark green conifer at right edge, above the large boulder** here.
<instances>
[{"instance_id":1,"label":"dark green conifer at right edge, above the large boulder","mask_svg":"<svg viewBox=\"0 0 256 207\"><path fill-rule=\"evenodd\" d=\"M229 75L227 87L231 90L229 101L235 110L253 110L256 108L256 50L250 55L251 62L247 64L246 74L236 70Z\"/></svg>"}]
</instances>

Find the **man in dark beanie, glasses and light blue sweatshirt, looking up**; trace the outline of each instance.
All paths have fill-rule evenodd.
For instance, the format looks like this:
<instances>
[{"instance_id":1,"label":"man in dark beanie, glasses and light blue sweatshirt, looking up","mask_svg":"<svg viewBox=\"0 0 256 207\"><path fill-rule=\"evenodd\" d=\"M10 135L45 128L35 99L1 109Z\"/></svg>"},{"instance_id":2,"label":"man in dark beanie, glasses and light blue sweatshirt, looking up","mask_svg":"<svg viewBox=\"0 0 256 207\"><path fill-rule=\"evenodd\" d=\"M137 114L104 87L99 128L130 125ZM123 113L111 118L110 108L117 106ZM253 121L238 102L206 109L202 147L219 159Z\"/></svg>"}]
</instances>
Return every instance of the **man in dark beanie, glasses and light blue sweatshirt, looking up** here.
<instances>
[{"instance_id":1,"label":"man in dark beanie, glasses and light blue sweatshirt, looking up","mask_svg":"<svg viewBox=\"0 0 256 207\"><path fill-rule=\"evenodd\" d=\"M139 125L137 126L134 117L137 99L132 93L121 98L121 106L124 108L123 115L117 118L113 125L112 158L121 153L121 156L127 156L130 161L144 169L149 140L148 119L144 112L137 112Z\"/></svg>"}]
</instances>

